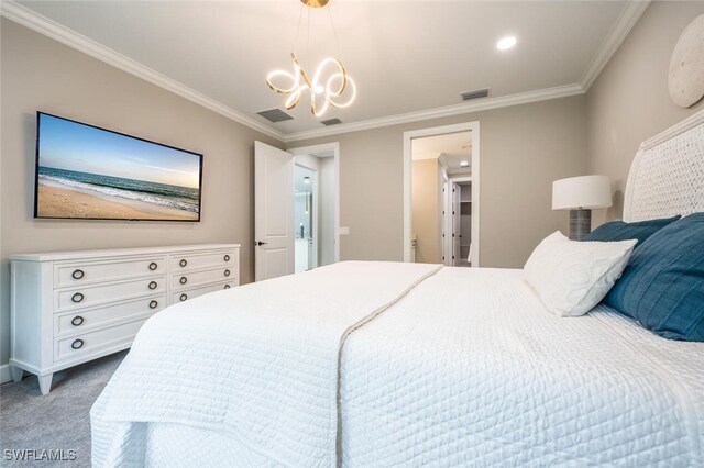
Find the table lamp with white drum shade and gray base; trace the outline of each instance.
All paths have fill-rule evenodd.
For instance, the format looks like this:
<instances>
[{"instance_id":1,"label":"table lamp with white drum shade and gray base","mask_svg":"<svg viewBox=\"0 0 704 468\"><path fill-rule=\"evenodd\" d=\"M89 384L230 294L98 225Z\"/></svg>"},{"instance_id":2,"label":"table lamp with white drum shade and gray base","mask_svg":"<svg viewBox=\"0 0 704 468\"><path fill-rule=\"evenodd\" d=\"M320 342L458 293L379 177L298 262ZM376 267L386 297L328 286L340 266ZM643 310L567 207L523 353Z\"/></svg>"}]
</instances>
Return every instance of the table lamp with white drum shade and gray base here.
<instances>
[{"instance_id":1,"label":"table lamp with white drum shade and gray base","mask_svg":"<svg viewBox=\"0 0 704 468\"><path fill-rule=\"evenodd\" d=\"M612 205L606 176L581 176L552 182L552 209L570 210L570 239L582 241L592 231L592 209Z\"/></svg>"}]
</instances>

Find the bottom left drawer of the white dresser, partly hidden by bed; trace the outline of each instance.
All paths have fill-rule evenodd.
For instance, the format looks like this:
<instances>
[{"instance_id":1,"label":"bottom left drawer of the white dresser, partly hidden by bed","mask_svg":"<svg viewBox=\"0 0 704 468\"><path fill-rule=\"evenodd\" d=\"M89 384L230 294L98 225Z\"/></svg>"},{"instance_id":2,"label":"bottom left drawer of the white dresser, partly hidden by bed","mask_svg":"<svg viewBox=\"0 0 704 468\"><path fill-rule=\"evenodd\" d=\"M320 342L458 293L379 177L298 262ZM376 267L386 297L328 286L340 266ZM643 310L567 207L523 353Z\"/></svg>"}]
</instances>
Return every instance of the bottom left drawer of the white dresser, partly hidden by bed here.
<instances>
[{"instance_id":1,"label":"bottom left drawer of the white dresser, partly hidden by bed","mask_svg":"<svg viewBox=\"0 0 704 468\"><path fill-rule=\"evenodd\" d=\"M54 359L74 358L120 342L132 342L144 322L146 322L146 319L67 338L54 339Z\"/></svg>"}]
</instances>

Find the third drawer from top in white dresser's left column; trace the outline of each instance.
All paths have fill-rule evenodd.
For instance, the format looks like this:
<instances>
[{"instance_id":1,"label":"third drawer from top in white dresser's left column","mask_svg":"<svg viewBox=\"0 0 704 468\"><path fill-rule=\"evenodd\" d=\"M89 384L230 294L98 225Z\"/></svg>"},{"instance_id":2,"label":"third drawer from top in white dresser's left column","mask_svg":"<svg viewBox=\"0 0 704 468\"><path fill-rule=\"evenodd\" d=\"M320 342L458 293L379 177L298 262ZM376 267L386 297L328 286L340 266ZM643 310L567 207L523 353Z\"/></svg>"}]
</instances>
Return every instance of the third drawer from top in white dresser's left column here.
<instances>
[{"instance_id":1,"label":"third drawer from top in white dresser's left column","mask_svg":"<svg viewBox=\"0 0 704 468\"><path fill-rule=\"evenodd\" d=\"M160 294L140 299L139 301L121 302L98 309L57 314L54 320L54 336L61 337L90 332L112 323L135 319L141 315L151 315L165 307L166 296Z\"/></svg>"}]
</instances>

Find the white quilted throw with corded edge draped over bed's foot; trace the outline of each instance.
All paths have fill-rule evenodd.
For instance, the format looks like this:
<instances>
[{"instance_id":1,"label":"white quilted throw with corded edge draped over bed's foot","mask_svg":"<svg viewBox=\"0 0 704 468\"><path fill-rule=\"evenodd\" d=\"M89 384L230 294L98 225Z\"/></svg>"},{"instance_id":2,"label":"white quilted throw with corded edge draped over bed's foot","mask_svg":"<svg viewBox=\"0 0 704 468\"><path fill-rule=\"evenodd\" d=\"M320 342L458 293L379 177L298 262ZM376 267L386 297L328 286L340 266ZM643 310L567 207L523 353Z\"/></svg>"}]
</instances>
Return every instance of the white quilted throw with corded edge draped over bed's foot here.
<instances>
[{"instance_id":1,"label":"white quilted throw with corded edge draped over bed's foot","mask_svg":"<svg viewBox=\"0 0 704 468\"><path fill-rule=\"evenodd\" d=\"M438 268L343 263L156 314L91 410L94 466L140 465L140 422L224 432L282 465L334 466L343 337Z\"/></svg>"}]
</instances>

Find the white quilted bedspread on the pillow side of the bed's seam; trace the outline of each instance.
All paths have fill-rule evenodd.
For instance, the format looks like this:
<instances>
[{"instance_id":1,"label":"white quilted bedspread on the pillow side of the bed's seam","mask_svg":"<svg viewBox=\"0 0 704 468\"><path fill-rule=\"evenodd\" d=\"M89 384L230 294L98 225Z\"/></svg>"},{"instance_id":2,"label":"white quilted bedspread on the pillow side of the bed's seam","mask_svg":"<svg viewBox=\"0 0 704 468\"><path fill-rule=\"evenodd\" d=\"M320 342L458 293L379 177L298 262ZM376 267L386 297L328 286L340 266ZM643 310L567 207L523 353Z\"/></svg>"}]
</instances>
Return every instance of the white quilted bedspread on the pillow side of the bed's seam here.
<instances>
[{"instance_id":1,"label":"white quilted bedspread on the pillow side of the bed's seam","mask_svg":"<svg viewBox=\"0 0 704 468\"><path fill-rule=\"evenodd\" d=\"M343 465L702 467L704 344L444 268L351 335Z\"/></svg>"}]
</instances>

